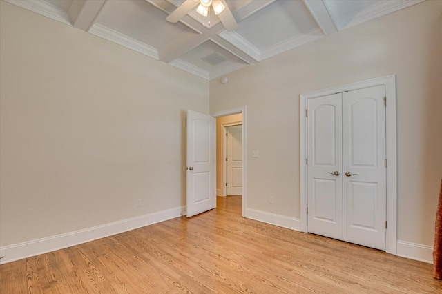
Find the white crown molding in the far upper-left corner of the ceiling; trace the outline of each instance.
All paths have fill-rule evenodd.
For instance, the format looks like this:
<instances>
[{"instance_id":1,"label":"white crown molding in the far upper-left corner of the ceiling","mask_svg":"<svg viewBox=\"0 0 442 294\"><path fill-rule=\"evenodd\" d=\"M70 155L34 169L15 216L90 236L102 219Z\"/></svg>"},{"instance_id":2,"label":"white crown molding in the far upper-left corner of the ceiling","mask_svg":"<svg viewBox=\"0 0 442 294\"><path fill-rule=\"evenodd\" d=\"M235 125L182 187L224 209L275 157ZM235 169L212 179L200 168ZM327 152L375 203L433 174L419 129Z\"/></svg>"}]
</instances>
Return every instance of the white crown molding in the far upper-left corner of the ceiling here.
<instances>
[{"instance_id":1,"label":"white crown molding in the far upper-left corner of the ceiling","mask_svg":"<svg viewBox=\"0 0 442 294\"><path fill-rule=\"evenodd\" d=\"M68 11L63 8L59 8L53 4L41 0L5 0L8 3L14 4L21 8L25 8L32 12L49 17L55 21L73 26L73 21L70 19Z\"/></svg>"}]
</instances>

